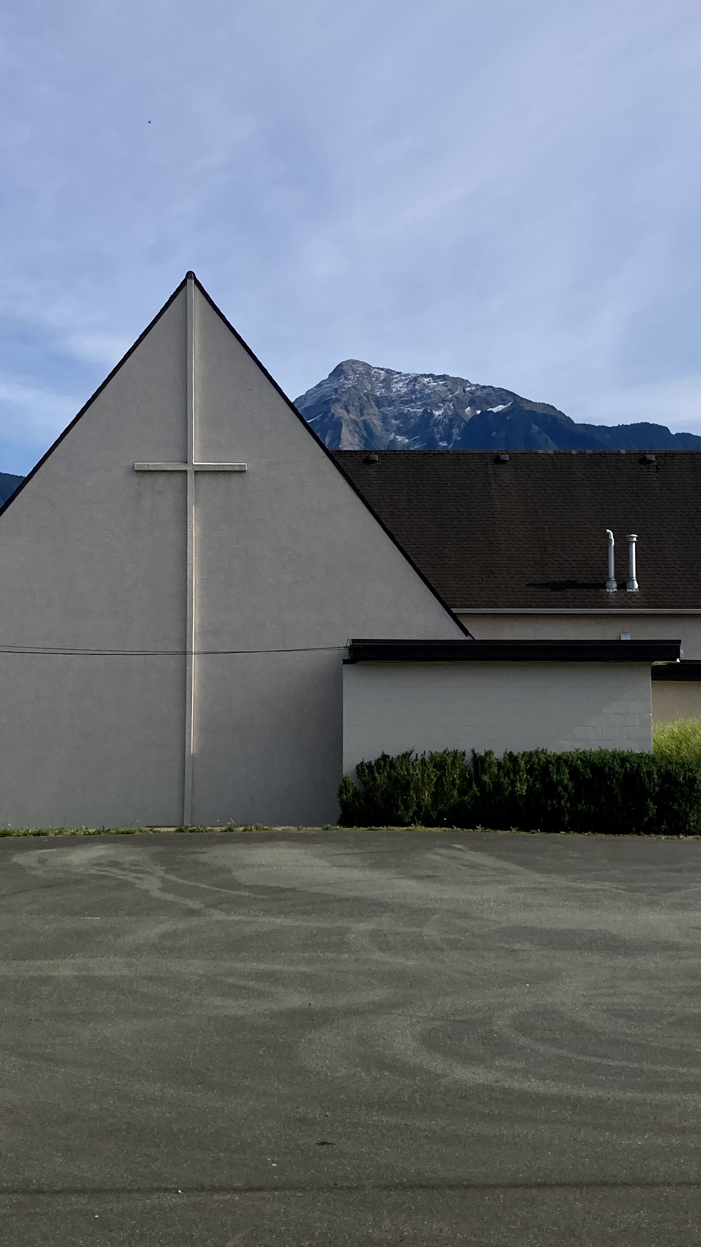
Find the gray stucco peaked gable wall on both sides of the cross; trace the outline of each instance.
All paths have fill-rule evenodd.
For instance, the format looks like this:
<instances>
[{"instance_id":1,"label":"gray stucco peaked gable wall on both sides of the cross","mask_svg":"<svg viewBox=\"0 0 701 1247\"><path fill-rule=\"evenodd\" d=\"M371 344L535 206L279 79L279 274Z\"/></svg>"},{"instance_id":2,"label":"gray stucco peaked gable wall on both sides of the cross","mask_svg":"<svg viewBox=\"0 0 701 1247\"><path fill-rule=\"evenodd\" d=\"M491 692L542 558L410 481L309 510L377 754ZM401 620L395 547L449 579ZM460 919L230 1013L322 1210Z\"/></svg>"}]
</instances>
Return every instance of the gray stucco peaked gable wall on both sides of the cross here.
<instances>
[{"instance_id":1,"label":"gray stucco peaked gable wall on both sides of the cross","mask_svg":"<svg viewBox=\"0 0 701 1247\"><path fill-rule=\"evenodd\" d=\"M332 821L349 636L462 636L196 292L196 823ZM0 645L185 647L181 293L0 518ZM312 647L312 648L308 648ZM314 648L322 647L322 648ZM323 647L331 647L324 650ZM0 653L0 826L173 826L185 658Z\"/></svg>"}]
</instances>

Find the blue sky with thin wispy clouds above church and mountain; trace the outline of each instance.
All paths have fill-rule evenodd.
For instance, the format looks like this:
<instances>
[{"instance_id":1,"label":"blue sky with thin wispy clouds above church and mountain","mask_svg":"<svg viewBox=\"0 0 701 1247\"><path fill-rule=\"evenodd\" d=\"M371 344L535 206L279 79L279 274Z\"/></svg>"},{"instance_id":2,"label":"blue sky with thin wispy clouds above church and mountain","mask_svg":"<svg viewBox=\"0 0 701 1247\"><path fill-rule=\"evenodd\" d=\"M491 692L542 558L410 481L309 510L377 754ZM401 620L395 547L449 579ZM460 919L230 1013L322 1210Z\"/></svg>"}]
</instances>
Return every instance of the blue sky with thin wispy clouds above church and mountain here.
<instances>
[{"instance_id":1,"label":"blue sky with thin wispy clouds above church and mountain","mask_svg":"<svg viewBox=\"0 0 701 1247\"><path fill-rule=\"evenodd\" d=\"M346 358L701 433L697 0L0 0L0 470L187 268Z\"/></svg>"}]
</instances>

